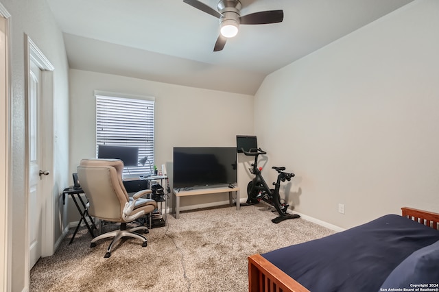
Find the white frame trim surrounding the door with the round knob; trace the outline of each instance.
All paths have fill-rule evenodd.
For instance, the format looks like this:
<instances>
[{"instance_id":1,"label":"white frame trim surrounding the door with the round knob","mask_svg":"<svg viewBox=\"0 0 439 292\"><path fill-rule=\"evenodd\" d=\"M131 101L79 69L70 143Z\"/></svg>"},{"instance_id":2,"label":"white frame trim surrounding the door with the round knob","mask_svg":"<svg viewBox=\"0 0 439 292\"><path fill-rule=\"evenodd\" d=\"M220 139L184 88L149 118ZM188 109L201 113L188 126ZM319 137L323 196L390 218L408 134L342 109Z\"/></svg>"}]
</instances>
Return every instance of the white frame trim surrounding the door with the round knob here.
<instances>
[{"instance_id":1,"label":"white frame trim surrounding the door with the round knob","mask_svg":"<svg viewBox=\"0 0 439 292\"><path fill-rule=\"evenodd\" d=\"M25 146L26 146L26 169L25 169L25 238L27 254L25 257L25 267L29 267L29 226L27 224L29 214L28 193L29 190L29 72L31 60L37 64L41 70L41 100L44 106L40 106L40 117L44 117L45 121L43 127L45 131L40 131L43 135L40 141L44 141L43 147L43 163L40 165L41 169L49 170L50 175L47 175L42 184L43 194L43 210L42 222L43 228L41 230L41 256L51 256L54 254L54 195L52 194L52 186L54 186L54 66L47 59L42 51L38 49L32 39L25 34ZM29 281L29 277L27 277ZM27 287L29 283L26 283Z\"/></svg>"}]
</instances>

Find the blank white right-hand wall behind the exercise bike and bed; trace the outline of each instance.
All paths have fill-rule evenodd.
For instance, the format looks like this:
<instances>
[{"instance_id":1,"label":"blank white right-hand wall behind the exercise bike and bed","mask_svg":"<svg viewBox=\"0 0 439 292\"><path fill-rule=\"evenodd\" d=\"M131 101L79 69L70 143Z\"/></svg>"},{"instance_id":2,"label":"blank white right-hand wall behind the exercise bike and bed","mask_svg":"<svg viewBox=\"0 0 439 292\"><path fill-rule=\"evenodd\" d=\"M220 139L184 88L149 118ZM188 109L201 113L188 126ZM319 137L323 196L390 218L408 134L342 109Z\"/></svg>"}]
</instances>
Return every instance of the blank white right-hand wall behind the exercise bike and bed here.
<instances>
[{"instance_id":1,"label":"blank white right-hand wall behind the exercise bike and bed","mask_svg":"<svg viewBox=\"0 0 439 292\"><path fill-rule=\"evenodd\" d=\"M439 212L438 15L416 0L266 77L255 132L268 164L296 173L295 210L342 228Z\"/></svg>"}]
</instances>

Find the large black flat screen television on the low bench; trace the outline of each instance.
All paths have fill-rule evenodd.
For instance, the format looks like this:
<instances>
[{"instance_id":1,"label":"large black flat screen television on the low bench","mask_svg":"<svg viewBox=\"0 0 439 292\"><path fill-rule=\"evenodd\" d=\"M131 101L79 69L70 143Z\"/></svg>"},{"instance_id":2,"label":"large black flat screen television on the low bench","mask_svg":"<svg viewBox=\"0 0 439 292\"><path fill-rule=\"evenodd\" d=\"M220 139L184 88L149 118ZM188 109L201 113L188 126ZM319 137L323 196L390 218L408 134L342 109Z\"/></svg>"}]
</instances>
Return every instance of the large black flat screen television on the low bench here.
<instances>
[{"instance_id":1,"label":"large black flat screen television on the low bench","mask_svg":"<svg viewBox=\"0 0 439 292\"><path fill-rule=\"evenodd\" d=\"M174 147L174 188L236 182L236 147Z\"/></svg>"}]
</instances>

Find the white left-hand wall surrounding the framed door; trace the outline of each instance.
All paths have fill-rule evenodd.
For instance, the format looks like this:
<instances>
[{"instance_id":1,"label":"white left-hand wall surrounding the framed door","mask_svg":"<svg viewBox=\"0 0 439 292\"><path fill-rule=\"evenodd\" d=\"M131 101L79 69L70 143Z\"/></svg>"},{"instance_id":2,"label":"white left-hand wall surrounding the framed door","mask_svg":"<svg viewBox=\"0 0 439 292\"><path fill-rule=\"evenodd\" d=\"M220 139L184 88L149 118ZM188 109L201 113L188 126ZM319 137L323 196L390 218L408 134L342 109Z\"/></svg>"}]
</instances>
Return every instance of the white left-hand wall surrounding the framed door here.
<instances>
[{"instance_id":1,"label":"white left-hand wall surrounding the framed door","mask_svg":"<svg viewBox=\"0 0 439 292\"><path fill-rule=\"evenodd\" d=\"M54 241L60 238L67 218L60 203L60 191L67 184L68 153L68 64L64 41L58 25L45 0L1 0L3 6L12 15L10 76L12 97L11 106L11 155L10 193L8 218L12 236L10 238L12 267L11 291L26 291L29 284L29 267L26 265L29 247L25 246L25 221L27 190L25 189L25 34L43 51L54 65L54 175L53 193L45 194L46 199L54 200L56 218ZM59 210L58 210L59 208ZM55 242L54 242L55 244Z\"/></svg>"}]
</instances>

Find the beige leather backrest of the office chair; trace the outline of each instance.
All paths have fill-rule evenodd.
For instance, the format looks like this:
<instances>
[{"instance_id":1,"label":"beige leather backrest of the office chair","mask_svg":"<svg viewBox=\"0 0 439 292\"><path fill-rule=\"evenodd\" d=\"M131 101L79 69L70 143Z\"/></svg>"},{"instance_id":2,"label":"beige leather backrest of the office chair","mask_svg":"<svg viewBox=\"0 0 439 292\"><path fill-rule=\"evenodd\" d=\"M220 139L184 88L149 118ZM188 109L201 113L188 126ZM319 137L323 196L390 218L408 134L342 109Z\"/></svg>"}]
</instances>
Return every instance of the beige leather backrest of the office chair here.
<instances>
[{"instance_id":1,"label":"beige leather backrest of the office chair","mask_svg":"<svg viewBox=\"0 0 439 292\"><path fill-rule=\"evenodd\" d=\"M123 221L128 193L122 182L123 162L116 159L83 159L78 178L90 207L88 214L108 221Z\"/></svg>"}]
</instances>

